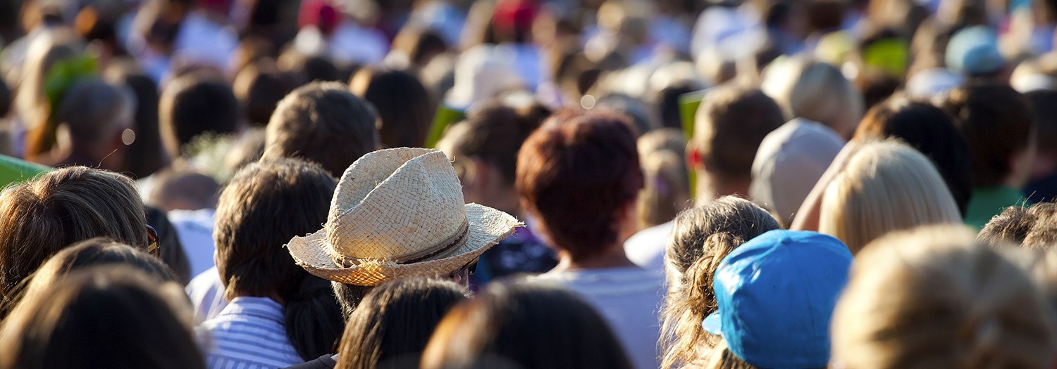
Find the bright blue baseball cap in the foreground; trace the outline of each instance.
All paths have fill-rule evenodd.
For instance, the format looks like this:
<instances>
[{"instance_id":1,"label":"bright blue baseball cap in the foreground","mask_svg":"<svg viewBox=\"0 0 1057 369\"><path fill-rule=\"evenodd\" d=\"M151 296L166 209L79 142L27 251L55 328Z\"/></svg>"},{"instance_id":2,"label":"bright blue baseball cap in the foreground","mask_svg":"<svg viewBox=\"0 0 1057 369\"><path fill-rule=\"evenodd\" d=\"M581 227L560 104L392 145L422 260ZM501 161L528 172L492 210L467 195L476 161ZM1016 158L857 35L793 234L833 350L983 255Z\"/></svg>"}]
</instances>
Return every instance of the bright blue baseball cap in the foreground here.
<instances>
[{"instance_id":1,"label":"bright blue baseball cap in the foreground","mask_svg":"<svg viewBox=\"0 0 1057 369\"><path fill-rule=\"evenodd\" d=\"M852 253L816 232L774 230L735 249L712 283L719 310L701 326L760 368L823 368L830 316Z\"/></svg>"}]
</instances>

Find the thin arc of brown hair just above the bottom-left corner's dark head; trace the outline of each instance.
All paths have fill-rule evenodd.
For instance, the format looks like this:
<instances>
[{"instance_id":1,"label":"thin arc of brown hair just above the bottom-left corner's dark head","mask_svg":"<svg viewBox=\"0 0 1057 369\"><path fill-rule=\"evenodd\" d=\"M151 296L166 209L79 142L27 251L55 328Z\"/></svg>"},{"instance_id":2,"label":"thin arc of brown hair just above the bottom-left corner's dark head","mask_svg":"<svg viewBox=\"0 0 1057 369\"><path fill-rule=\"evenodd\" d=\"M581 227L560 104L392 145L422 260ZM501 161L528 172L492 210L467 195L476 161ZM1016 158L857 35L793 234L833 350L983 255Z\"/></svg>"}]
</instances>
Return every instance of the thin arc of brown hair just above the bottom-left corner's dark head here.
<instances>
[{"instance_id":1,"label":"thin arc of brown hair just above the bottom-left corner's dark head","mask_svg":"<svg viewBox=\"0 0 1057 369\"><path fill-rule=\"evenodd\" d=\"M137 269L162 281L179 283L172 270L161 259L143 250L115 242L106 237L95 237L76 242L55 253L44 261L15 298L4 302L4 310L11 311L18 302L39 298L52 286L66 280L77 270L97 266L125 266Z\"/></svg>"}]
</instances>

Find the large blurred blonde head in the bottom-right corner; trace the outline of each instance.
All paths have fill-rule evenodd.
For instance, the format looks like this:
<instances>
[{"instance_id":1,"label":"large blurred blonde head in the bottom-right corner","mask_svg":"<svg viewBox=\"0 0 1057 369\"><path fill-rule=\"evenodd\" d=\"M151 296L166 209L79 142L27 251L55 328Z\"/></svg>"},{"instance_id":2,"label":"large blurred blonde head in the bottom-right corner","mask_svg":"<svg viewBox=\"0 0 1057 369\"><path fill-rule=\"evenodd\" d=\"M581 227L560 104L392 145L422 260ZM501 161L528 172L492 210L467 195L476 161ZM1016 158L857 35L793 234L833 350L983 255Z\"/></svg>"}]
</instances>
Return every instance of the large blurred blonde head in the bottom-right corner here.
<instances>
[{"instance_id":1,"label":"large blurred blonde head in the bottom-right corner","mask_svg":"<svg viewBox=\"0 0 1057 369\"><path fill-rule=\"evenodd\" d=\"M833 316L832 362L858 368L1051 368L1053 321L1028 274L962 226L863 250Z\"/></svg>"}]
</instances>

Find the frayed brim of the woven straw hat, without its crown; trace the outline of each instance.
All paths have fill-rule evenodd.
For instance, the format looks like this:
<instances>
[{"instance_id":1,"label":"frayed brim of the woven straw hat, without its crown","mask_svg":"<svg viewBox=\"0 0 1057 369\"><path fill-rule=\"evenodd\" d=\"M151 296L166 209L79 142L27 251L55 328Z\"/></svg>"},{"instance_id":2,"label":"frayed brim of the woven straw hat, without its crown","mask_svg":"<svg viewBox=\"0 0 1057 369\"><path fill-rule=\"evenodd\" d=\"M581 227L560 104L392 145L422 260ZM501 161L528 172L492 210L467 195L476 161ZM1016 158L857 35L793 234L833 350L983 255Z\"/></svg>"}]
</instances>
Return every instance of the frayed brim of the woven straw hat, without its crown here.
<instances>
[{"instance_id":1,"label":"frayed brim of the woven straw hat, without its crown","mask_svg":"<svg viewBox=\"0 0 1057 369\"><path fill-rule=\"evenodd\" d=\"M413 264L396 264L389 259L360 259L359 265L344 268L330 256L332 250L327 229L303 237L294 237L286 245L294 260L309 273L346 285L376 286L388 279L406 276L438 276L462 268L514 233L524 224L509 214L477 203L466 205L469 232L466 244L447 256Z\"/></svg>"}]
</instances>

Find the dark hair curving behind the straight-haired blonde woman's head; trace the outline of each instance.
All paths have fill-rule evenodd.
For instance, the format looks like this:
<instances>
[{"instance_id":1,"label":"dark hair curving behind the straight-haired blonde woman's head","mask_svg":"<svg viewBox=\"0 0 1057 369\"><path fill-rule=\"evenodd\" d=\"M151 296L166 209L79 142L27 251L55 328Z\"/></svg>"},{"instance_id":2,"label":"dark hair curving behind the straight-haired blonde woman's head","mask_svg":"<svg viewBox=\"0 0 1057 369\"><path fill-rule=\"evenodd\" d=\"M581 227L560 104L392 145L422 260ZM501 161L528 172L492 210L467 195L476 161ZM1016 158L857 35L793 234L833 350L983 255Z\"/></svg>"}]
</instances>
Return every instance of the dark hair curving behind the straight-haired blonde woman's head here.
<instances>
[{"instance_id":1,"label":"dark hair curving behind the straight-haired blonde woman's head","mask_svg":"<svg viewBox=\"0 0 1057 369\"><path fill-rule=\"evenodd\" d=\"M925 154L943 176L965 214L972 194L972 153L965 137L943 110L925 102L893 97L870 110L854 139L898 138Z\"/></svg>"}]
</instances>

